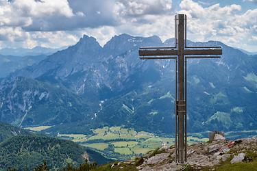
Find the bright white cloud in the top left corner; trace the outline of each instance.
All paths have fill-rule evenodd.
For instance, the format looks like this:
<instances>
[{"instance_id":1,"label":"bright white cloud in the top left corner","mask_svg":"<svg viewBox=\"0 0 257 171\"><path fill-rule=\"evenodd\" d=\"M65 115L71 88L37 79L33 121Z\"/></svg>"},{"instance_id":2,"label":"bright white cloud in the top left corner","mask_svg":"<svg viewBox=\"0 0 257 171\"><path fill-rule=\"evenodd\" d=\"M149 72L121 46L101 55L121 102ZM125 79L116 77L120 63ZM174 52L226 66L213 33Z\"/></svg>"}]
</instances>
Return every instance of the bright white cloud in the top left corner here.
<instances>
[{"instance_id":1,"label":"bright white cloud in the top left corner","mask_svg":"<svg viewBox=\"0 0 257 171\"><path fill-rule=\"evenodd\" d=\"M34 20L49 16L73 16L66 0L0 0L0 25L28 27Z\"/></svg>"}]
</instances>

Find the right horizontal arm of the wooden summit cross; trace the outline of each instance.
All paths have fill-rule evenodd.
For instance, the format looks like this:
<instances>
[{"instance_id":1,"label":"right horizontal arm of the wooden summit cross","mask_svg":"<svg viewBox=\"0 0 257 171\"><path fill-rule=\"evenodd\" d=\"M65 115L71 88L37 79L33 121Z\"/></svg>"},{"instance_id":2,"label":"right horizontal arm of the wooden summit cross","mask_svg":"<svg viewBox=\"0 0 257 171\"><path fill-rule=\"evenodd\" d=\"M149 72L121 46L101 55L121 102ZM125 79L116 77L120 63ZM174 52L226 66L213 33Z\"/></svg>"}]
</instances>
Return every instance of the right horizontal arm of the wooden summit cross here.
<instances>
[{"instance_id":1,"label":"right horizontal arm of the wooden summit cross","mask_svg":"<svg viewBox=\"0 0 257 171\"><path fill-rule=\"evenodd\" d=\"M184 55L222 55L222 49L186 49Z\"/></svg>"}]
</instances>

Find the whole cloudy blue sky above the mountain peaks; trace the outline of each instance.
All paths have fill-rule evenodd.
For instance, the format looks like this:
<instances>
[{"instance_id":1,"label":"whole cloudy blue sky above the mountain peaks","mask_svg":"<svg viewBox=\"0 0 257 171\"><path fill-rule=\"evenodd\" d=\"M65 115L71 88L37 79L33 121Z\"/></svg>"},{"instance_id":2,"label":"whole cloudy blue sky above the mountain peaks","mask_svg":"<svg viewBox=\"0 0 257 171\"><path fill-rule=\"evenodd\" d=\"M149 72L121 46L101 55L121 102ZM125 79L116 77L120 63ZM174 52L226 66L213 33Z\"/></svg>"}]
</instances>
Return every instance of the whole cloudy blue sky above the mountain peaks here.
<instances>
[{"instance_id":1,"label":"whole cloudy blue sky above the mountain peaks","mask_svg":"<svg viewBox=\"0 0 257 171\"><path fill-rule=\"evenodd\" d=\"M174 15L188 16L188 39L219 40L257 51L257 0L0 0L0 48L64 47L86 34L174 36Z\"/></svg>"}]
</instances>

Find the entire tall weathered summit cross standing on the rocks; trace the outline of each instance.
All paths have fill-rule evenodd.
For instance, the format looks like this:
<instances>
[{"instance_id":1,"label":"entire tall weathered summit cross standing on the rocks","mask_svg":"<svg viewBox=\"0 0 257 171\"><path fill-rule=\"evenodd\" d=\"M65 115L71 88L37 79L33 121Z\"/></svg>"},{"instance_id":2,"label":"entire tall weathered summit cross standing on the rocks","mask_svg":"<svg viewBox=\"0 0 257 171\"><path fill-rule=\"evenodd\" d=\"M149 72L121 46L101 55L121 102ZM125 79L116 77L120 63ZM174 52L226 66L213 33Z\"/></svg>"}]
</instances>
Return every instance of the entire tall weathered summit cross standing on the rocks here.
<instances>
[{"instance_id":1,"label":"entire tall weathered summit cross standing on the rocks","mask_svg":"<svg viewBox=\"0 0 257 171\"><path fill-rule=\"evenodd\" d=\"M141 60L175 60L175 159L177 163L186 163L186 60L220 58L217 55L222 55L222 49L187 47L186 15L178 14L175 15L175 47L141 47L139 55Z\"/></svg>"}]
</instances>

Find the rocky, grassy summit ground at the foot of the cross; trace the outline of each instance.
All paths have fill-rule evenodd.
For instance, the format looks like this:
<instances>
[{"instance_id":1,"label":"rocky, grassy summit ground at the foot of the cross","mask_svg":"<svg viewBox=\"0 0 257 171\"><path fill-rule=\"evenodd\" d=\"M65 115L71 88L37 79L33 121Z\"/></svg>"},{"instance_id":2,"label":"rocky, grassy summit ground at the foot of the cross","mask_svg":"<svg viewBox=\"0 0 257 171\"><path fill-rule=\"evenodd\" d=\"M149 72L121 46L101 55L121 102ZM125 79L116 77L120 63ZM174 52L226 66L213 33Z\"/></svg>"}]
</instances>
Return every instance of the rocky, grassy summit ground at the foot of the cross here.
<instances>
[{"instance_id":1,"label":"rocky, grassy summit ground at the foot of the cross","mask_svg":"<svg viewBox=\"0 0 257 171\"><path fill-rule=\"evenodd\" d=\"M230 141L218 140L188 146L188 160L184 165L175 162L174 146L159 148L154 152L130 161L100 166L96 170L257 170L257 137L242 139L232 146ZM213 149L219 149L213 152ZM243 154L241 161L236 161Z\"/></svg>"}]
</instances>

